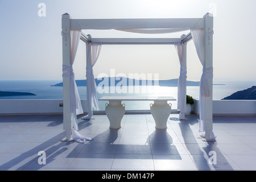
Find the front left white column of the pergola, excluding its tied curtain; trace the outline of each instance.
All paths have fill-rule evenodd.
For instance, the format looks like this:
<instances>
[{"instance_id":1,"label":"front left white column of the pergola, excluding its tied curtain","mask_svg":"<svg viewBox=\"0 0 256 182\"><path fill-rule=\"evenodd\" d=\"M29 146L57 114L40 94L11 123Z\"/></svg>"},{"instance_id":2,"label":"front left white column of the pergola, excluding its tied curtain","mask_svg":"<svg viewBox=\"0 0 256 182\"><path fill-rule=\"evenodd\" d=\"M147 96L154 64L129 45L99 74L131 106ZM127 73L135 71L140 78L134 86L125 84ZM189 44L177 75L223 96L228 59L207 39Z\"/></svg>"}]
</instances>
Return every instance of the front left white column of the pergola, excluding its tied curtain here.
<instances>
[{"instance_id":1,"label":"front left white column of the pergola, excluding its tied curtain","mask_svg":"<svg viewBox=\"0 0 256 182\"><path fill-rule=\"evenodd\" d=\"M70 34L69 14L62 15L62 46L63 46L63 64L71 66L71 34ZM65 140L71 139L71 96L70 96L70 78L63 78L63 129L67 135Z\"/></svg>"}]
</instances>

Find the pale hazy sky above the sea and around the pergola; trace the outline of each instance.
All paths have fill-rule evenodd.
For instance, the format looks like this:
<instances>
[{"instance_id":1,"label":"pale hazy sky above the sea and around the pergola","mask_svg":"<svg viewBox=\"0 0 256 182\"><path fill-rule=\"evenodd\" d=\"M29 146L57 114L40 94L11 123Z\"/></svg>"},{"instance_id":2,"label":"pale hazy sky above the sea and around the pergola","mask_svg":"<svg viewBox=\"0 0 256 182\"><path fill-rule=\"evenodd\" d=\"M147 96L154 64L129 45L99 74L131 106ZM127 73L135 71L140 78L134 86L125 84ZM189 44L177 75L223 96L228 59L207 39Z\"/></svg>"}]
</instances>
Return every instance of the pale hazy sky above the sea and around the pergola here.
<instances>
[{"instance_id":1,"label":"pale hazy sky above the sea and around the pergola","mask_svg":"<svg viewBox=\"0 0 256 182\"><path fill-rule=\"evenodd\" d=\"M46 16L39 16L39 3ZM0 79L58 79L62 75L61 15L76 19L201 18L214 15L214 79L256 80L256 1L153 1L153 0L0 0ZM115 30L84 30L94 38L161 37L179 34L131 34ZM187 32L184 32L187 33ZM76 79L85 79L85 44L80 42L73 68ZM188 80L200 80L202 65L193 41L187 46ZM94 66L100 73L159 73L160 79L179 77L174 46L102 46Z\"/></svg>"}]
</instances>

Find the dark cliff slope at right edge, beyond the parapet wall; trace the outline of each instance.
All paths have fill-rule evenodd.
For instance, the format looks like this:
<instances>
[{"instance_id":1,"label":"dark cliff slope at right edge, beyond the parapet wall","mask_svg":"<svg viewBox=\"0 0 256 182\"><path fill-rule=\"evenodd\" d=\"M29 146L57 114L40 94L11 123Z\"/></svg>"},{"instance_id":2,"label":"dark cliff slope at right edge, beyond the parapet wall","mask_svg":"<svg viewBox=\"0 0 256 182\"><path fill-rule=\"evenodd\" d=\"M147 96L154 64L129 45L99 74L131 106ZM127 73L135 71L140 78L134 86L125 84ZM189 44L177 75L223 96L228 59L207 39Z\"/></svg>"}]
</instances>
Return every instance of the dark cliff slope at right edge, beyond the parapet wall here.
<instances>
[{"instance_id":1,"label":"dark cliff slope at right edge, beyond the parapet wall","mask_svg":"<svg viewBox=\"0 0 256 182\"><path fill-rule=\"evenodd\" d=\"M222 100L256 100L256 86L233 93Z\"/></svg>"}]
</instances>

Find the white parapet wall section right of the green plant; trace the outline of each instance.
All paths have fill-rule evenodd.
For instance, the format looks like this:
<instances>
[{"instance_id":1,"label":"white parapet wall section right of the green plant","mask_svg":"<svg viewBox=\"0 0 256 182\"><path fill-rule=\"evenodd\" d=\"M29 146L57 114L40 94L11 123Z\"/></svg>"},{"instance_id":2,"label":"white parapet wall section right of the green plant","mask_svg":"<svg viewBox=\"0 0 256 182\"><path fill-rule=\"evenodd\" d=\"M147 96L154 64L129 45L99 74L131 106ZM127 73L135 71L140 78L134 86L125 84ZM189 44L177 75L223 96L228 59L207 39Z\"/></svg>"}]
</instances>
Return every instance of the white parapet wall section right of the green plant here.
<instances>
[{"instance_id":1,"label":"white parapet wall section right of the green plant","mask_svg":"<svg viewBox=\"0 0 256 182\"><path fill-rule=\"evenodd\" d=\"M198 99L195 99L193 112L199 115ZM215 100L213 115L256 115L256 100Z\"/></svg>"}]
</instances>

